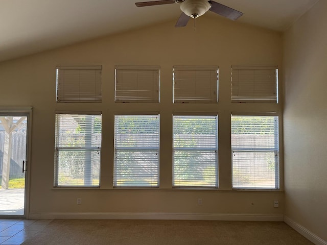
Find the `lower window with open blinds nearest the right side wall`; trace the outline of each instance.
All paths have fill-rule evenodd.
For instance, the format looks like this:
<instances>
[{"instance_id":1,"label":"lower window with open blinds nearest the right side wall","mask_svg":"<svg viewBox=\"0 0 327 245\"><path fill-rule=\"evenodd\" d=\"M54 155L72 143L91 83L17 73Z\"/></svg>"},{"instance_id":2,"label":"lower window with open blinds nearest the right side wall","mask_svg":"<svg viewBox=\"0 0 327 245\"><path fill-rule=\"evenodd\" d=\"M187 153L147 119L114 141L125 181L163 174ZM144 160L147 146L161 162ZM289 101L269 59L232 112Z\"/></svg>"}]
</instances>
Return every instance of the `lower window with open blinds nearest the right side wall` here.
<instances>
[{"instance_id":1,"label":"lower window with open blinds nearest the right side wall","mask_svg":"<svg viewBox=\"0 0 327 245\"><path fill-rule=\"evenodd\" d=\"M232 188L279 189L278 116L231 116Z\"/></svg>"}]
</instances>

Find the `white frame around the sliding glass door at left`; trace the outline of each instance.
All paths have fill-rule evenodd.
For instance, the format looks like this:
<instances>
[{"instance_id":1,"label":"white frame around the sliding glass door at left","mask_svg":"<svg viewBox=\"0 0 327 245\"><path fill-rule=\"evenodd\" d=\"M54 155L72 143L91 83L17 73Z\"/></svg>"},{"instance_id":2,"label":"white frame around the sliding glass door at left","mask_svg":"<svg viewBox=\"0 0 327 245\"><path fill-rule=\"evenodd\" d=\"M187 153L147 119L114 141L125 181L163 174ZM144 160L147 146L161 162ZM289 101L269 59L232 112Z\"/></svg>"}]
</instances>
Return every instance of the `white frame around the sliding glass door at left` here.
<instances>
[{"instance_id":1,"label":"white frame around the sliding glass door at left","mask_svg":"<svg viewBox=\"0 0 327 245\"><path fill-rule=\"evenodd\" d=\"M31 146L32 146L32 107L0 107L0 115L26 116L26 156L27 162L25 171L25 197L23 215L0 215L0 218L29 218L30 211L30 177L31 177Z\"/></svg>"}]
</instances>

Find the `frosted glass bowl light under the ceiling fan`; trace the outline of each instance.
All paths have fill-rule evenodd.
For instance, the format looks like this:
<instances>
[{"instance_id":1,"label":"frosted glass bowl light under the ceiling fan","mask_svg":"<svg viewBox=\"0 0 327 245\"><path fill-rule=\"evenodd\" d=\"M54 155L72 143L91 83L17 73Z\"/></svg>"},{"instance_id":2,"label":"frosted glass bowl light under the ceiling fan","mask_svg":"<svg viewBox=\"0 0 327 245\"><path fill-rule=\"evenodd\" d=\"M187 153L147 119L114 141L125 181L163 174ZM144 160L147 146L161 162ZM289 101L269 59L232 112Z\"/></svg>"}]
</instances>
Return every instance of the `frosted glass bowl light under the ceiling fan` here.
<instances>
[{"instance_id":1,"label":"frosted glass bowl light under the ceiling fan","mask_svg":"<svg viewBox=\"0 0 327 245\"><path fill-rule=\"evenodd\" d=\"M185 0L180 4L180 10L194 19L203 15L209 8L211 4L207 0Z\"/></svg>"}]
</instances>

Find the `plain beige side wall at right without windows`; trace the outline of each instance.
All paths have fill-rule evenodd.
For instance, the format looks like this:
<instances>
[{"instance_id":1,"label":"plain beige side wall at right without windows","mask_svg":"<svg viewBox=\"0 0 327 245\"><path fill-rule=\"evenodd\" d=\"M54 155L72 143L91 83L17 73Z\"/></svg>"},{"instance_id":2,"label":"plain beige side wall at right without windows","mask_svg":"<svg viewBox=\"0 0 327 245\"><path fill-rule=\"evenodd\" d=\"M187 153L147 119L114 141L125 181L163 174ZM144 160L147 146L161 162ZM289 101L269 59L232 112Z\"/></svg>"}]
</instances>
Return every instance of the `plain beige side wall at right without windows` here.
<instances>
[{"instance_id":1,"label":"plain beige side wall at right without windows","mask_svg":"<svg viewBox=\"0 0 327 245\"><path fill-rule=\"evenodd\" d=\"M327 241L327 9L319 1L287 32L285 215Z\"/></svg>"}]
</instances>

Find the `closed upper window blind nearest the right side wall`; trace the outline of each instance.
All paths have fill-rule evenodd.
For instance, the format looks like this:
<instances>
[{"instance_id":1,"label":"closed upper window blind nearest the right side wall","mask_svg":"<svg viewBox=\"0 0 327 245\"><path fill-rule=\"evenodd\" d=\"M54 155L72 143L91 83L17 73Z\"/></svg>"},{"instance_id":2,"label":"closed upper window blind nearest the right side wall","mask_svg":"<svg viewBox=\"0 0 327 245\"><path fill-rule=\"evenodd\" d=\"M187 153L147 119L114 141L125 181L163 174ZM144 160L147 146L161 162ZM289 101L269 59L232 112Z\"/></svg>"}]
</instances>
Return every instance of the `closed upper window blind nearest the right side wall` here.
<instances>
[{"instance_id":1,"label":"closed upper window blind nearest the right side wall","mask_svg":"<svg viewBox=\"0 0 327 245\"><path fill-rule=\"evenodd\" d=\"M277 103L276 65L233 65L231 67L232 103Z\"/></svg>"}]
</instances>

